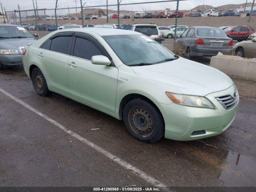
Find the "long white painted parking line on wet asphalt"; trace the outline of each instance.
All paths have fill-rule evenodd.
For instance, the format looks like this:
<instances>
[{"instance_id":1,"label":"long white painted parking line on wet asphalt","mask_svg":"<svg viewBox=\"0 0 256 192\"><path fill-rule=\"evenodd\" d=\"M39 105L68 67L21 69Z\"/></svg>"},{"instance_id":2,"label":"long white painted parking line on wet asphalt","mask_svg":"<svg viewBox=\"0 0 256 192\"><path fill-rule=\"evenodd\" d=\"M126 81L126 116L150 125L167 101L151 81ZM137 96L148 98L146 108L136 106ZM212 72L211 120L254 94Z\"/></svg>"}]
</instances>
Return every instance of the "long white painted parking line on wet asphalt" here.
<instances>
[{"instance_id":1,"label":"long white painted parking line on wet asphalt","mask_svg":"<svg viewBox=\"0 0 256 192\"><path fill-rule=\"evenodd\" d=\"M132 166L131 164L129 164L128 162L118 158L117 156L111 154L110 152L104 150L103 148L97 146L96 144L88 141L87 139L83 138L82 136L72 132L71 130L68 130L67 128L65 128L63 125L59 124L58 122L56 122L55 120L51 119L50 117L46 116L45 114L41 113L40 111L36 110L35 108L33 108L32 106L30 106L29 104L23 102L22 100L16 98L15 96L13 96L12 94L6 92L5 90L2 90L0 88L0 92L2 92L3 94L5 94L6 96L8 96L9 98L11 98L12 100L16 101L17 103L21 104L22 106L26 107L27 109L29 109L30 111L38 114L39 116L41 116L42 118L46 119L47 121L51 122L52 124L54 124L55 126L57 126L58 128L61 128L62 130L64 130L66 133L70 134L71 136L73 136L74 138L82 141L83 143L85 143L86 145L92 147L94 150L100 152L101 154L103 154L104 156L108 157L109 159L113 160L114 162L116 162L117 164L119 164L120 166L126 168L127 170L132 170L132 172L134 172L136 175L138 175L140 178L146 180L146 182L150 183L153 186L156 187L161 187L161 188L165 188L166 185L161 183L160 181L156 180L155 178L149 176L148 174L146 174L145 172L143 172L142 170Z\"/></svg>"}]
</instances>

